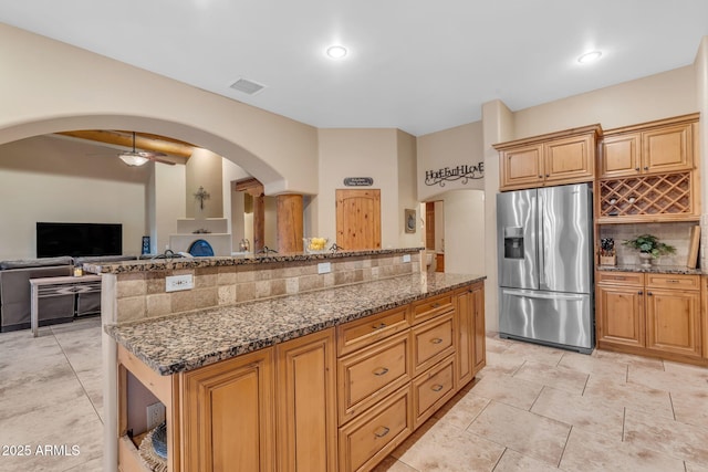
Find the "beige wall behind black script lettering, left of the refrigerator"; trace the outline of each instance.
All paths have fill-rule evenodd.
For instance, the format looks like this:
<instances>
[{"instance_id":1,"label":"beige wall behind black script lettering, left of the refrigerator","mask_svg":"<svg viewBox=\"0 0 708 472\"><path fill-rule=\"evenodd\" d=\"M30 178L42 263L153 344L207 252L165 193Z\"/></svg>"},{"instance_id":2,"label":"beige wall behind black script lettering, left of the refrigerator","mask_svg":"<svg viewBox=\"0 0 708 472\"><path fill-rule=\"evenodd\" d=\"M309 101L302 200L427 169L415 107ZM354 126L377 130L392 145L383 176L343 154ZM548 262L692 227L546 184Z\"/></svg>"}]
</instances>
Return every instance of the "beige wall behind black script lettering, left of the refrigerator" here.
<instances>
[{"instance_id":1,"label":"beige wall behind black script lettering, left of the refrigerator","mask_svg":"<svg viewBox=\"0 0 708 472\"><path fill-rule=\"evenodd\" d=\"M448 190L485 188L485 180L461 179L446 181L445 187L425 183L426 170L438 170L459 165L475 166L485 160L482 139L482 122L470 123L455 128L418 136L418 199L434 200Z\"/></svg>"}]
</instances>

